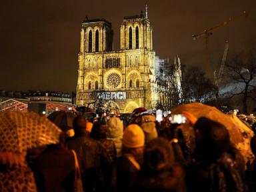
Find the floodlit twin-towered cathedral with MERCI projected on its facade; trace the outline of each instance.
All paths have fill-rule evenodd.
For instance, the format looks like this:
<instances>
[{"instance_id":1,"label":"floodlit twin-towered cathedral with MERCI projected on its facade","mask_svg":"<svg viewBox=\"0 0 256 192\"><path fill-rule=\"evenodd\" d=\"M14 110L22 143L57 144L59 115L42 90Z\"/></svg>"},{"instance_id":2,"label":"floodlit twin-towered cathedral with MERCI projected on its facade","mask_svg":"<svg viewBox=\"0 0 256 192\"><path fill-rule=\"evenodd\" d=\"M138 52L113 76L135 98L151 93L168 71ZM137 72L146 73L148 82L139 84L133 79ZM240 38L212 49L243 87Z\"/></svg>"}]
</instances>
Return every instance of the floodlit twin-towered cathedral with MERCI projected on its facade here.
<instances>
[{"instance_id":1,"label":"floodlit twin-towered cathedral with MERCI projected on its facade","mask_svg":"<svg viewBox=\"0 0 256 192\"><path fill-rule=\"evenodd\" d=\"M97 99L131 113L137 107L153 109L170 99L159 92L152 27L145 14L124 17L120 49L113 50L113 29L105 19L85 19L78 55L77 105Z\"/></svg>"}]
</instances>

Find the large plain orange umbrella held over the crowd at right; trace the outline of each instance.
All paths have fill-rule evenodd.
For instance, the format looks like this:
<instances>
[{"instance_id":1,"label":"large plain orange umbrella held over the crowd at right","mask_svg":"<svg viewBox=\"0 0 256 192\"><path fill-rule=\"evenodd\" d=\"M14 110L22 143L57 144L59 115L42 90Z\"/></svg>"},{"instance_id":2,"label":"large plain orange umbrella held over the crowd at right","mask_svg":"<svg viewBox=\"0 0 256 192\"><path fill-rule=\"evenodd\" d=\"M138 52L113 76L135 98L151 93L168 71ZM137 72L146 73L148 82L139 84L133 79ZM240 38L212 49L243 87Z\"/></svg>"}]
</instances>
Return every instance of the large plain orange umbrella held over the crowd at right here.
<instances>
[{"instance_id":1,"label":"large plain orange umbrella held over the crowd at right","mask_svg":"<svg viewBox=\"0 0 256 192\"><path fill-rule=\"evenodd\" d=\"M251 158L250 139L253 131L239 120L235 115L227 115L216 107L204 105L203 103L189 103L179 105L171 110L172 114L181 114L184 111L191 113L197 118L207 117L227 127L231 142L241 151L245 159Z\"/></svg>"}]
</instances>

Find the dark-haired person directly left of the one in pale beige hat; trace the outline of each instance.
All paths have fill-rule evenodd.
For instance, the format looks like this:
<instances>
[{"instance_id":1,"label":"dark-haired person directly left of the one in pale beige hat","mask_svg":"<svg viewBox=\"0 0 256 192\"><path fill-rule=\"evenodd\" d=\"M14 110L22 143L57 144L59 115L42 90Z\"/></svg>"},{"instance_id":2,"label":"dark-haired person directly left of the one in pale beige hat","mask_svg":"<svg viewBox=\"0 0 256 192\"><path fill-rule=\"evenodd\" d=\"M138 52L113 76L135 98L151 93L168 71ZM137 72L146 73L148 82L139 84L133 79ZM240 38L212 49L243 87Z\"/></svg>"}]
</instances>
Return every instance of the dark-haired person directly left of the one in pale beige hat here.
<instances>
[{"instance_id":1,"label":"dark-haired person directly left of the one in pale beige hat","mask_svg":"<svg viewBox=\"0 0 256 192\"><path fill-rule=\"evenodd\" d=\"M94 123L90 137L96 139L104 150L105 156L101 158L101 171L103 174L103 191L113 191L112 173L113 163L117 157L115 143L107 139L109 129L105 121Z\"/></svg>"}]
</instances>

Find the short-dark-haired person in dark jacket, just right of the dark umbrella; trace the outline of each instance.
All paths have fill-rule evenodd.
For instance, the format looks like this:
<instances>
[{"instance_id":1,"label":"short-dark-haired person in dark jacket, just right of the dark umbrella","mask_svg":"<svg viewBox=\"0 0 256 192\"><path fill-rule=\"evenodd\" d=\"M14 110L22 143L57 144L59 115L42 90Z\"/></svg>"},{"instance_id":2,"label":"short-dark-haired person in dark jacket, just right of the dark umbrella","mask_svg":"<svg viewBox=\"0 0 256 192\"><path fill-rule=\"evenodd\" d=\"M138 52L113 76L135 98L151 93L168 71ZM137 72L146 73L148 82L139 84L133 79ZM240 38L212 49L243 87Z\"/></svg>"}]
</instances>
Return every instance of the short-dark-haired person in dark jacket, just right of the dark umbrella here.
<instances>
[{"instance_id":1,"label":"short-dark-haired person in dark jacket, just right of the dark umbrella","mask_svg":"<svg viewBox=\"0 0 256 192\"><path fill-rule=\"evenodd\" d=\"M83 116L75 117L73 127L75 136L67 141L67 147L77 153L83 179L83 189L85 191L100 190L102 188L100 171L102 147L97 141L88 136L86 119Z\"/></svg>"}]
</instances>

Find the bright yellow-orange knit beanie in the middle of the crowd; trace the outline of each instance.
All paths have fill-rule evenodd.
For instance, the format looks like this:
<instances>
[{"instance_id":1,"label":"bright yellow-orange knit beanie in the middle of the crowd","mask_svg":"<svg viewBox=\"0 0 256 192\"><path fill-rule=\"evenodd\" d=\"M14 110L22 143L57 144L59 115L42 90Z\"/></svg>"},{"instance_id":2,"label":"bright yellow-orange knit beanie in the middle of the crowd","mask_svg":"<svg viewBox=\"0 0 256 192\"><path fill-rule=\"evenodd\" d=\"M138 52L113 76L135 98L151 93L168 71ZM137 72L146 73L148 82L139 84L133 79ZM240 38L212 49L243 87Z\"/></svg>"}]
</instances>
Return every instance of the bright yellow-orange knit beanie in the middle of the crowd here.
<instances>
[{"instance_id":1,"label":"bright yellow-orange knit beanie in the middle of the crowd","mask_svg":"<svg viewBox=\"0 0 256 192\"><path fill-rule=\"evenodd\" d=\"M123 146L127 148L143 147L145 135L139 125L128 125L123 133Z\"/></svg>"}]
</instances>

